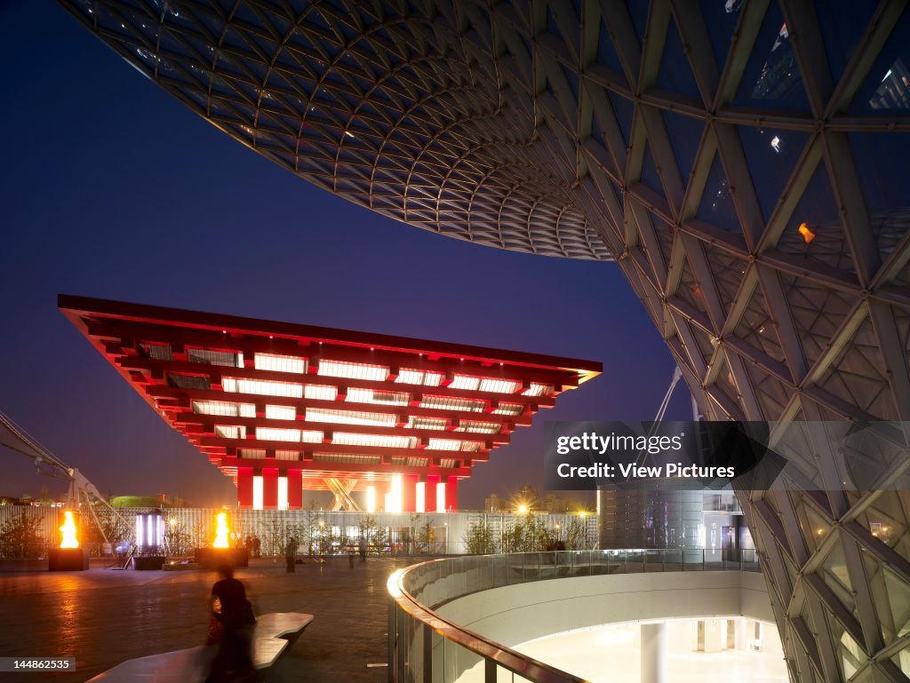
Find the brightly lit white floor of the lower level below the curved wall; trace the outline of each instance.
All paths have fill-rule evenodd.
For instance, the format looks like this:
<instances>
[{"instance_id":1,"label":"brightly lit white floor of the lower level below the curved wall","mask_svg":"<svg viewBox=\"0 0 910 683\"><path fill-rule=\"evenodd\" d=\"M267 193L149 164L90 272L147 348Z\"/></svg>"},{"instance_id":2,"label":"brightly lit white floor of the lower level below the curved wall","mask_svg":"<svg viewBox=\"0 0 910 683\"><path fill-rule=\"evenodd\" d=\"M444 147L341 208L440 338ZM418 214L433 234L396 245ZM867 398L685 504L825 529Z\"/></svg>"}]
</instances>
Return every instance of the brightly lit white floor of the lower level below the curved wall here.
<instances>
[{"instance_id":1,"label":"brightly lit white floor of the lower level below the curved wall","mask_svg":"<svg viewBox=\"0 0 910 683\"><path fill-rule=\"evenodd\" d=\"M696 652L696 621L667 621L668 683L787 683L784 653L773 624L764 624L762 651ZM592 683L637 683L640 624L612 624L538 638L514 649Z\"/></svg>"}]
</instances>

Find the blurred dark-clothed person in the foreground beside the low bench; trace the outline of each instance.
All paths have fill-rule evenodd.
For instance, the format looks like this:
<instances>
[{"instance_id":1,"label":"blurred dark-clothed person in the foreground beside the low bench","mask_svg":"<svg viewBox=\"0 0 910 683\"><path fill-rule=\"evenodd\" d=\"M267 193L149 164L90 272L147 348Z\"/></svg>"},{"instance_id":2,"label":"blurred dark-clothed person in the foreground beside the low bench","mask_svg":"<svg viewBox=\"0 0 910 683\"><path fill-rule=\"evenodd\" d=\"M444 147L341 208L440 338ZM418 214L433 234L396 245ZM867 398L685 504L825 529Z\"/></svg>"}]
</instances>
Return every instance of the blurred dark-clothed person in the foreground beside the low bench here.
<instances>
[{"instance_id":1,"label":"blurred dark-clothed person in the foreground beside the low bench","mask_svg":"<svg viewBox=\"0 0 910 683\"><path fill-rule=\"evenodd\" d=\"M251 647L256 618L247 599L247 590L234 578L234 567L218 567L220 580L212 587L212 610L223 630L218 651L212 659L206 683L243 681L255 683Z\"/></svg>"}]
</instances>

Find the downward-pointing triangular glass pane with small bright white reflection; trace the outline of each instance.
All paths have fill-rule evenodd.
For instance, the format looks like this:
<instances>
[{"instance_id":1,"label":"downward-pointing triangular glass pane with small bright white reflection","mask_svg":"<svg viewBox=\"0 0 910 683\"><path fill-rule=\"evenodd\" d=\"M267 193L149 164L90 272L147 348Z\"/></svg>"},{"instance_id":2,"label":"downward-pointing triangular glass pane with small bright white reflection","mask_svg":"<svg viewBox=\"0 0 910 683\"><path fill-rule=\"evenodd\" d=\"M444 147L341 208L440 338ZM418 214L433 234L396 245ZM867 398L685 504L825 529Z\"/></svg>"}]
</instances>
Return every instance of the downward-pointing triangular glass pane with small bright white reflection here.
<instances>
[{"instance_id":1,"label":"downward-pointing triangular glass pane with small bright white reflection","mask_svg":"<svg viewBox=\"0 0 910 683\"><path fill-rule=\"evenodd\" d=\"M793 173L809 135L795 130L737 126L752 186L765 222Z\"/></svg>"}]
</instances>

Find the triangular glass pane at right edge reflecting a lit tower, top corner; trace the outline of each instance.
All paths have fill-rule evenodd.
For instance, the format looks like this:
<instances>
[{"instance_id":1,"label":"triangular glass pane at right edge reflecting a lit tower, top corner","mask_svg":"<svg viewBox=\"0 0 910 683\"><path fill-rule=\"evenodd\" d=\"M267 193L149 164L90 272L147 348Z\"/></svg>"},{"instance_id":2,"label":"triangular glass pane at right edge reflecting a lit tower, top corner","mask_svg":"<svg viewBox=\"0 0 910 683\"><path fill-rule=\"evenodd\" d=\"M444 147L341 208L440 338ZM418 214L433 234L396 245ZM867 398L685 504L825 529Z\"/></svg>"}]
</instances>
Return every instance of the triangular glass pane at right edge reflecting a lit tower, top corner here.
<instances>
[{"instance_id":1,"label":"triangular glass pane at right edge reflecting a lit tower, top corner","mask_svg":"<svg viewBox=\"0 0 910 683\"><path fill-rule=\"evenodd\" d=\"M860 3L862 5L862 3ZM902 12L850 105L853 113L910 109L910 14Z\"/></svg>"}]
</instances>

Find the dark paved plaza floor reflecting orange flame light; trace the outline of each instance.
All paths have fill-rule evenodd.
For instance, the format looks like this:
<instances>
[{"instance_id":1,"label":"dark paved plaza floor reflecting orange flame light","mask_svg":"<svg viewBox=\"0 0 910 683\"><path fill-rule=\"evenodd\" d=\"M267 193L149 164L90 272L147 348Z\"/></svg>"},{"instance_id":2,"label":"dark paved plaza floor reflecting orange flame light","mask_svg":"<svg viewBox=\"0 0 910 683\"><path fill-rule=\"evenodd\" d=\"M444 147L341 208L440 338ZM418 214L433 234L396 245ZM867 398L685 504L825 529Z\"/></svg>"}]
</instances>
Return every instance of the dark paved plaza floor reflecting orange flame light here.
<instances>
[{"instance_id":1,"label":"dark paved plaza floor reflecting orange flame light","mask_svg":"<svg viewBox=\"0 0 910 683\"><path fill-rule=\"evenodd\" d=\"M404 557L324 562L297 572L284 558L253 559L237 577L258 613L306 612L312 624L263 683L383 683L387 659L386 580ZM4 673L25 683L82 683L120 662L201 645L214 571L4 572L0 657L75 657L76 672ZM187 683L192 683L187 681Z\"/></svg>"}]
</instances>

